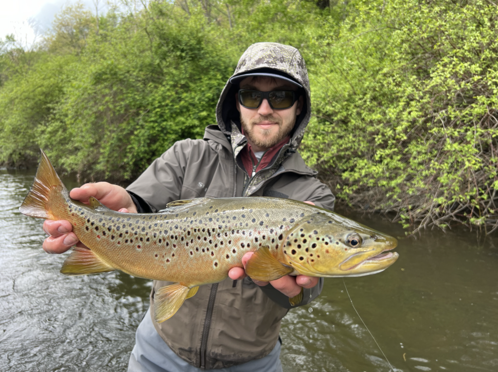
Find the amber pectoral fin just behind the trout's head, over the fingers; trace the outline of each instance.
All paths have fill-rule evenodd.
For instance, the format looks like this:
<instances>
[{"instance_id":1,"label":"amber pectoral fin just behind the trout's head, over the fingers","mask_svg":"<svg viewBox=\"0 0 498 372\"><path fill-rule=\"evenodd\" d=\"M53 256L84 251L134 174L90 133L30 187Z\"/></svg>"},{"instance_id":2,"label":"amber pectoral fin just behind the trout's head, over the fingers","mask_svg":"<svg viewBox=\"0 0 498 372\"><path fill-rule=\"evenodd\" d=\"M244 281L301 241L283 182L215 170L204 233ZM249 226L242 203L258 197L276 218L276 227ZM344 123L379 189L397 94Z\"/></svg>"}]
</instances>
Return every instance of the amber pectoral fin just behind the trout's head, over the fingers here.
<instances>
[{"instance_id":1,"label":"amber pectoral fin just behind the trout's head, over the fingers","mask_svg":"<svg viewBox=\"0 0 498 372\"><path fill-rule=\"evenodd\" d=\"M270 253L268 247L260 247L251 256L246 264L246 274L251 279L270 281L282 278L284 275L294 271L289 266L285 266Z\"/></svg>"}]
</instances>

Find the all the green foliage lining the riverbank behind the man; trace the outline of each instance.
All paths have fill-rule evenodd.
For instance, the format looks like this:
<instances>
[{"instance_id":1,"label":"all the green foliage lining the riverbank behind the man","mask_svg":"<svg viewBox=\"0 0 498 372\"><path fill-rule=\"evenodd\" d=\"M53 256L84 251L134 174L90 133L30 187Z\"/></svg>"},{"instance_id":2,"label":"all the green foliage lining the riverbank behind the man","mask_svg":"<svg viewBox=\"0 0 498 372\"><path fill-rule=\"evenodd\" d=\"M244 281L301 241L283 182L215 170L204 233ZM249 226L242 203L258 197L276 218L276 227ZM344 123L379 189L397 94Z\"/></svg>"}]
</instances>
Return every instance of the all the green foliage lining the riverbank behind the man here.
<instances>
[{"instance_id":1,"label":"all the green foliage lining the riverbank behind the man","mask_svg":"<svg viewBox=\"0 0 498 372\"><path fill-rule=\"evenodd\" d=\"M275 41L307 61L302 153L342 200L405 226L498 226L492 1L145 4L98 19L65 7L38 49L0 42L0 164L29 165L43 147L82 181L131 180L202 138L242 52Z\"/></svg>"}]
</instances>

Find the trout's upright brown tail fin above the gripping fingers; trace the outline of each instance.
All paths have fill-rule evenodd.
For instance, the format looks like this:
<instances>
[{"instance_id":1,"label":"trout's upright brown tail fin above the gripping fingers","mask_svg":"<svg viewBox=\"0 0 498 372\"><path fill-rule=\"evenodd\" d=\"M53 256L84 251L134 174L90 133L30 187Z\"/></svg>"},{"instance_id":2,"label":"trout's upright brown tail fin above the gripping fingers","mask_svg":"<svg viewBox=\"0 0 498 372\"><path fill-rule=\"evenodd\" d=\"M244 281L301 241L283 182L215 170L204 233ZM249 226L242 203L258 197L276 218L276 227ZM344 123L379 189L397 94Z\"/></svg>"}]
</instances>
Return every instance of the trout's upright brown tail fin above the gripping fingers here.
<instances>
[{"instance_id":1,"label":"trout's upright brown tail fin above the gripping fingers","mask_svg":"<svg viewBox=\"0 0 498 372\"><path fill-rule=\"evenodd\" d=\"M51 218L47 209L49 196L54 191L61 192L65 189L50 160L41 150L40 165L33 185L19 207L19 212L30 217Z\"/></svg>"}]
</instances>

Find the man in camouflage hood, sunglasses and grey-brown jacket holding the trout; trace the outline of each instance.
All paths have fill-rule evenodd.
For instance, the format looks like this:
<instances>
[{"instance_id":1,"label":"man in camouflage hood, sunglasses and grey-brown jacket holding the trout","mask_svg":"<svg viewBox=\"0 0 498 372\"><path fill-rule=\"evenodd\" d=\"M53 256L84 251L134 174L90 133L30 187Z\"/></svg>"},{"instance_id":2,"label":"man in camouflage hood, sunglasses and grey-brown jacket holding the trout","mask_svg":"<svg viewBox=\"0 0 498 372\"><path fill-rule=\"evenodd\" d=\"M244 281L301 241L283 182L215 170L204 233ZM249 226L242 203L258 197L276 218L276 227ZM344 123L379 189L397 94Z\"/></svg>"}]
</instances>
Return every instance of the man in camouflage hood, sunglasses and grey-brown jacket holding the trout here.
<instances>
[{"instance_id":1,"label":"man in camouflage hood, sunglasses and grey-brown jacket holding the trout","mask_svg":"<svg viewBox=\"0 0 498 372\"><path fill-rule=\"evenodd\" d=\"M128 188L87 184L71 197L89 196L123 212L155 212L178 199L273 196L333 209L334 196L296 152L310 118L304 60L293 47L256 43L241 57L216 108L218 125L203 140L175 143ZM44 249L61 253L80 244L68 221L46 221ZM251 253L243 258L245 265ZM150 296L166 285L154 281ZM304 288L311 302L323 279L306 276L254 282L241 268L204 285L170 319L146 314L136 333L128 371L281 371L280 321L288 298Z\"/></svg>"}]
</instances>

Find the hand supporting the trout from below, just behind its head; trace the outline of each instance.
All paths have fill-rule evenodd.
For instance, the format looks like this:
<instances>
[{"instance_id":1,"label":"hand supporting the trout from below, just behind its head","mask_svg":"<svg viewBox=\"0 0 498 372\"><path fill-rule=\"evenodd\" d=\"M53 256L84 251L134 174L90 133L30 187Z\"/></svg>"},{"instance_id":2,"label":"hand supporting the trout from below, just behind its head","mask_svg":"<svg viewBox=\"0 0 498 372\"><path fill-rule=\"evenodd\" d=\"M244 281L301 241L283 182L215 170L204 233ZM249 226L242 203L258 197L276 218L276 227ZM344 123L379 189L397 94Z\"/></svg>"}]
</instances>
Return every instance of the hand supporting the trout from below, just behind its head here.
<instances>
[{"instance_id":1,"label":"hand supporting the trout from below, just behind its head","mask_svg":"<svg viewBox=\"0 0 498 372\"><path fill-rule=\"evenodd\" d=\"M311 201L305 201L305 203L313 204ZM253 252L248 252L242 257L242 264L244 268L249 260L249 258L253 255ZM232 268L230 269L228 276L231 279L244 279L247 277L246 271L242 268ZM282 278L271 280L269 283L273 286L273 288L279 290L283 294L288 297L294 297L299 294L301 291L301 287L304 288L313 288L318 284L319 278L315 277L307 277L305 275L298 275L296 277L292 277L290 275L283 276ZM267 285L267 281L259 281L253 280L254 283L260 286Z\"/></svg>"}]
</instances>

